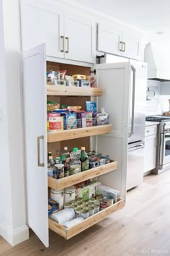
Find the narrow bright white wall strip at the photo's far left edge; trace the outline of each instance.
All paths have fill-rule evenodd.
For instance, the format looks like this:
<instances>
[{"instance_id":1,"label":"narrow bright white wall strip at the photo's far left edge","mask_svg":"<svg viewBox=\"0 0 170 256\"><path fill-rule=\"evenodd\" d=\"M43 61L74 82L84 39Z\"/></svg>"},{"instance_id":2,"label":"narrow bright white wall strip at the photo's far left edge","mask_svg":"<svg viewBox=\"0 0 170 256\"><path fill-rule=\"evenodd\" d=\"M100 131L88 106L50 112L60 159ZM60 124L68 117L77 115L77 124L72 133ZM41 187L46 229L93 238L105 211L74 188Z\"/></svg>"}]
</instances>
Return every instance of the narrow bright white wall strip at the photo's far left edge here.
<instances>
[{"instance_id":1,"label":"narrow bright white wall strip at the photo's far left edge","mask_svg":"<svg viewBox=\"0 0 170 256\"><path fill-rule=\"evenodd\" d=\"M5 81L4 31L0 0L0 234L5 239L12 232L12 197L9 168L9 136Z\"/></svg>"}]
</instances>

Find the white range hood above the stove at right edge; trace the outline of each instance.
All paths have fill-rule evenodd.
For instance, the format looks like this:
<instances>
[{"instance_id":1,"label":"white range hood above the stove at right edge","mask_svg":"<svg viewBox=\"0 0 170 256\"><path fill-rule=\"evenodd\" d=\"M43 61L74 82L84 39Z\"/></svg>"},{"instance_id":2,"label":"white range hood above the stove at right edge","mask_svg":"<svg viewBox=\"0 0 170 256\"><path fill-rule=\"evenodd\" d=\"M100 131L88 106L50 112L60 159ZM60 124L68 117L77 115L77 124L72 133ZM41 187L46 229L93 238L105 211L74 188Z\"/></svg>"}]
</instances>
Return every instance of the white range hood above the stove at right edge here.
<instances>
[{"instance_id":1,"label":"white range hood above the stove at right edge","mask_svg":"<svg viewBox=\"0 0 170 256\"><path fill-rule=\"evenodd\" d=\"M170 42L148 43L144 61L148 63L148 79L161 82L170 81Z\"/></svg>"}]
</instances>

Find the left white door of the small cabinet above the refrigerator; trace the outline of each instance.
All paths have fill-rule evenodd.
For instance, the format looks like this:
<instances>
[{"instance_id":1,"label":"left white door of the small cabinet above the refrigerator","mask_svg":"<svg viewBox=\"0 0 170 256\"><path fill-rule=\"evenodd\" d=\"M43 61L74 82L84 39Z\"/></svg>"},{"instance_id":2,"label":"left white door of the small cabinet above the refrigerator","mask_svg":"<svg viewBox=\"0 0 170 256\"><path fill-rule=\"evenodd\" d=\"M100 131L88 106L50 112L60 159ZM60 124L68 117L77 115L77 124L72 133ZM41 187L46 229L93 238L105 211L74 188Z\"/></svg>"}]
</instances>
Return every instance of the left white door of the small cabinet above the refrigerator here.
<instances>
[{"instance_id":1,"label":"left white door of the small cabinet above the refrigerator","mask_svg":"<svg viewBox=\"0 0 170 256\"><path fill-rule=\"evenodd\" d=\"M122 55L122 31L107 24L99 24L97 32L97 51Z\"/></svg>"}]
</instances>

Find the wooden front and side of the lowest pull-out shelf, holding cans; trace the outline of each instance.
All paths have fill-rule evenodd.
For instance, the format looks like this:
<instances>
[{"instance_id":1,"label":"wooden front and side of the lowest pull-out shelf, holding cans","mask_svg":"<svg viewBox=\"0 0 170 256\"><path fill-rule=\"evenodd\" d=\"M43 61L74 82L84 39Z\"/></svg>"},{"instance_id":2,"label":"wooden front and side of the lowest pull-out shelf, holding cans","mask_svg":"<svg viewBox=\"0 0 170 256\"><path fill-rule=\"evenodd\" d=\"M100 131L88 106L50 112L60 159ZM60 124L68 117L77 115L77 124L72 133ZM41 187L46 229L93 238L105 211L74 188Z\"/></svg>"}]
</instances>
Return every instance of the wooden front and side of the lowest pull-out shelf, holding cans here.
<instances>
[{"instance_id":1,"label":"wooden front and side of the lowest pull-out shelf, holding cans","mask_svg":"<svg viewBox=\"0 0 170 256\"><path fill-rule=\"evenodd\" d=\"M49 218L49 229L55 231L55 233L59 234L60 236L63 236L63 238L68 240L71 237L76 236L76 234L79 234L81 231L84 231L85 229L88 229L90 226L93 226L99 221L102 221L104 218L107 218L109 214L115 212L116 210L120 210L124 206L125 200L121 198L114 205L111 205L108 208L101 210L99 213L96 213L93 216L86 218L84 221L73 226L71 229L66 229L61 224Z\"/></svg>"}]
</instances>

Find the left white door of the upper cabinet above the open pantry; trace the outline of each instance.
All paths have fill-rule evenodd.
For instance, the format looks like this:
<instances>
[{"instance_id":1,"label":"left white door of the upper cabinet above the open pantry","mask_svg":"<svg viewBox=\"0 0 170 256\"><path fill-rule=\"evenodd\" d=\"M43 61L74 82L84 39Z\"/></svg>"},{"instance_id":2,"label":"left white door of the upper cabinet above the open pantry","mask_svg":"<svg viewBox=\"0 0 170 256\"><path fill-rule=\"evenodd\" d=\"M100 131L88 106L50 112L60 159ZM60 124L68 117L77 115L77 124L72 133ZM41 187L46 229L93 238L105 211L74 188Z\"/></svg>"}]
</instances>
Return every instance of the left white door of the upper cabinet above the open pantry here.
<instances>
[{"instance_id":1,"label":"left white door of the upper cabinet above the open pantry","mask_svg":"<svg viewBox=\"0 0 170 256\"><path fill-rule=\"evenodd\" d=\"M46 43L47 56L63 58L63 12L22 0L22 51Z\"/></svg>"}]
</instances>

